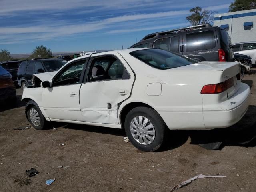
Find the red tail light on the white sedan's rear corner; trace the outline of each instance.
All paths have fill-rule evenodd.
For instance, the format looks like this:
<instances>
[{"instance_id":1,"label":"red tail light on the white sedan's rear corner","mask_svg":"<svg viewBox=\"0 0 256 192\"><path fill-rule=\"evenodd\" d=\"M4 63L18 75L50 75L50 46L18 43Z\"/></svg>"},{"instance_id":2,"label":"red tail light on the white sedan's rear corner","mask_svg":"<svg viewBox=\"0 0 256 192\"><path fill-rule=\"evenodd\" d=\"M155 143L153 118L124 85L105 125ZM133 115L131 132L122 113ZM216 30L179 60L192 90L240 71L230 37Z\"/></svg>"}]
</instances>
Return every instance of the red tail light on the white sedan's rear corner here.
<instances>
[{"instance_id":1,"label":"red tail light on the white sedan's rear corner","mask_svg":"<svg viewBox=\"0 0 256 192\"><path fill-rule=\"evenodd\" d=\"M203 86L203 88L201 90L201 94L222 93L232 86L234 86L234 79L230 78L222 83L210 84L210 85Z\"/></svg>"}]
</instances>

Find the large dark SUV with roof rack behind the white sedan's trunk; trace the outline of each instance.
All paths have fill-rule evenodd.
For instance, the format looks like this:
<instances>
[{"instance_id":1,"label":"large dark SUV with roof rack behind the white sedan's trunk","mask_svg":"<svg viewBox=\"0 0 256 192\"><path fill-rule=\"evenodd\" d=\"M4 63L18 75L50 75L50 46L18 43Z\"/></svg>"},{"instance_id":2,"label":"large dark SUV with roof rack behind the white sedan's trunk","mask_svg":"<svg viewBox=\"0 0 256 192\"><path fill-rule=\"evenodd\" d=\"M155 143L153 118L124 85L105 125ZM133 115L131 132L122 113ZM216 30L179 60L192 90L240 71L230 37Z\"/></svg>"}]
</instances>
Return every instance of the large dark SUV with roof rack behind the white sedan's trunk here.
<instances>
[{"instance_id":1,"label":"large dark SUV with roof rack behind the white sedan's trunk","mask_svg":"<svg viewBox=\"0 0 256 192\"><path fill-rule=\"evenodd\" d=\"M148 34L130 48L156 47L199 61L232 61L234 54L225 29L202 24Z\"/></svg>"}]
</instances>

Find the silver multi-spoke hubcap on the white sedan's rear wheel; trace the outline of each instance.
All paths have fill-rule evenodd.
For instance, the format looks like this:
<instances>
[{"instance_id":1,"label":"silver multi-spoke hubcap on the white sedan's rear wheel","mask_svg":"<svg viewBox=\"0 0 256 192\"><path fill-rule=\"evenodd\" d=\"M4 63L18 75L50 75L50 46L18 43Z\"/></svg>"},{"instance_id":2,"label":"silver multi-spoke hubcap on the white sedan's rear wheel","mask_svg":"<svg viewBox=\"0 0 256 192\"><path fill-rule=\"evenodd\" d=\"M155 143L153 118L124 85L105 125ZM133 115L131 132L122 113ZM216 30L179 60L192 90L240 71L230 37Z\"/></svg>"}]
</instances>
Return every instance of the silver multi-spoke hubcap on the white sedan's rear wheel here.
<instances>
[{"instance_id":1,"label":"silver multi-spoke hubcap on the white sedan's rear wheel","mask_svg":"<svg viewBox=\"0 0 256 192\"><path fill-rule=\"evenodd\" d=\"M130 122L130 131L133 138L142 145L148 145L155 139L154 125L144 116L136 116Z\"/></svg>"}]
</instances>

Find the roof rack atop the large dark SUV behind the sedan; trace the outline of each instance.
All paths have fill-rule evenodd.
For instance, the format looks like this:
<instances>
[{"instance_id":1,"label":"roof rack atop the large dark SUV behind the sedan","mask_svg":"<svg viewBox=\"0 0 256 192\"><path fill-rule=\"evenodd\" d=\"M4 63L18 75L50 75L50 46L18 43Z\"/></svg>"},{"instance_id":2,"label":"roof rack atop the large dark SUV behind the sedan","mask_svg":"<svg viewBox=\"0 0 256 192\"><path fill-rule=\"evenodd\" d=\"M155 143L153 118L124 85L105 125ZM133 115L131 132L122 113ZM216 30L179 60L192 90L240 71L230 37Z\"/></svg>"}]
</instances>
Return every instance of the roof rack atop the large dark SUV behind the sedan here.
<instances>
[{"instance_id":1,"label":"roof rack atop the large dark SUV behind the sedan","mask_svg":"<svg viewBox=\"0 0 256 192\"><path fill-rule=\"evenodd\" d=\"M183 28L178 28L178 29L172 29L172 30L166 30L166 31L151 33L151 34L148 34L147 36L145 36L142 40L151 39L155 36L171 34L171 33L178 33L178 32L181 32L181 31L187 31L187 30L191 30L191 29L194 30L194 29L203 28L203 27L211 27L211 24L206 23L206 24L201 24L201 25L194 25L194 26L188 26L188 27L183 27Z\"/></svg>"}]
</instances>

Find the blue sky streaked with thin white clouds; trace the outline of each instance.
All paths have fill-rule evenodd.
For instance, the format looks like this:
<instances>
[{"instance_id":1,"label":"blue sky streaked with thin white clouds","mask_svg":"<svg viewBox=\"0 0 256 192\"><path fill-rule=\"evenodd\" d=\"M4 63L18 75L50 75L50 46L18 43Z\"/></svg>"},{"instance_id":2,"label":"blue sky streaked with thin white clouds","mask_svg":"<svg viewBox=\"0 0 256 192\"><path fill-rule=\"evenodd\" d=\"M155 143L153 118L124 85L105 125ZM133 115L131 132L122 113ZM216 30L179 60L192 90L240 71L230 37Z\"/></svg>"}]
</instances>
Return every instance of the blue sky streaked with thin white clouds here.
<instances>
[{"instance_id":1,"label":"blue sky streaked with thin white clouds","mask_svg":"<svg viewBox=\"0 0 256 192\"><path fill-rule=\"evenodd\" d=\"M152 32L188 26L190 8L228 11L233 0L0 0L0 49L30 53L130 47Z\"/></svg>"}]
</instances>

